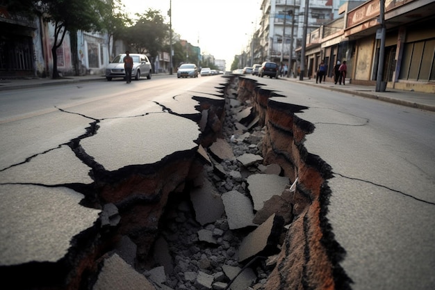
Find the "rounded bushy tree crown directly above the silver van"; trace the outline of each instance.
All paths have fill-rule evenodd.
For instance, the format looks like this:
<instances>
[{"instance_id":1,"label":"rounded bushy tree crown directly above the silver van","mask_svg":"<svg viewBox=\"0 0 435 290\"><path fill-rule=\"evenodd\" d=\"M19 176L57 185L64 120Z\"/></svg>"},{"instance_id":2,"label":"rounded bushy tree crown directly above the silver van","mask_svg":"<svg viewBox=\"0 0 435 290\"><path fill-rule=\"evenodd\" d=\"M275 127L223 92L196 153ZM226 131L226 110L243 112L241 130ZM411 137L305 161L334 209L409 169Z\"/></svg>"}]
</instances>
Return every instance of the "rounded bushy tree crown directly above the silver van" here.
<instances>
[{"instance_id":1,"label":"rounded bushy tree crown directly above the silver van","mask_svg":"<svg viewBox=\"0 0 435 290\"><path fill-rule=\"evenodd\" d=\"M145 15L136 14L136 16L139 19L127 29L126 41L135 52L139 54L147 52L154 60L167 42L168 26L158 10L149 9Z\"/></svg>"}]
</instances>

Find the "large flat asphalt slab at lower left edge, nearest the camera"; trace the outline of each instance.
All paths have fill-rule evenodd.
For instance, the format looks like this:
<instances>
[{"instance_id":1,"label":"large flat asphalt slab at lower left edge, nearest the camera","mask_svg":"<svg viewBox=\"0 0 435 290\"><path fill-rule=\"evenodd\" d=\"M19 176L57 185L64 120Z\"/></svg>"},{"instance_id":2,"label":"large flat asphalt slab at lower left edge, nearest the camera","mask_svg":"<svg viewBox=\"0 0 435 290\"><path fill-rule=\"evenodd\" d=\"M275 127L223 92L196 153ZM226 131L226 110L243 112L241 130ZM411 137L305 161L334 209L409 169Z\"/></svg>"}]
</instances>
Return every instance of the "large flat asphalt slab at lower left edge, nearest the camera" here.
<instances>
[{"instance_id":1,"label":"large flat asphalt slab at lower left edge, nearest the camera","mask_svg":"<svg viewBox=\"0 0 435 290\"><path fill-rule=\"evenodd\" d=\"M65 187L0 185L0 266L64 259L72 241L95 227L101 211Z\"/></svg>"}]
</instances>

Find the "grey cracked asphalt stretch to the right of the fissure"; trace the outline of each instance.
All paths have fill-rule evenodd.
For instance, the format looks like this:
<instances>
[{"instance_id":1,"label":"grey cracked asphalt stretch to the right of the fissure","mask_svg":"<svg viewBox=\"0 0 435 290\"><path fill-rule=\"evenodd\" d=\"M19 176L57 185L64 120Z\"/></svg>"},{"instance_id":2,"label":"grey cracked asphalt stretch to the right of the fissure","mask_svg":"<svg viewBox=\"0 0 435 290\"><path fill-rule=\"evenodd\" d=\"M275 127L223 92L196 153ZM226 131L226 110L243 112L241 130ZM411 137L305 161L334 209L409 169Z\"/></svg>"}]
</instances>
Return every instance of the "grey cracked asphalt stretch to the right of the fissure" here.
<instances>
[{"instance_id":1,"label":"grey cracked asphalt stretch to the right of the fissure","mask_svg":"<svg viewBox=\"0 0 435 290\"><path fill-rule=\"evenodd\" d=\"M255 79L255 78L254 78ZM308 152L334 172L327 219L352 289L435 289L435 114L282 81L259 81L309 107Z\"/></svg>"}]
</instances>

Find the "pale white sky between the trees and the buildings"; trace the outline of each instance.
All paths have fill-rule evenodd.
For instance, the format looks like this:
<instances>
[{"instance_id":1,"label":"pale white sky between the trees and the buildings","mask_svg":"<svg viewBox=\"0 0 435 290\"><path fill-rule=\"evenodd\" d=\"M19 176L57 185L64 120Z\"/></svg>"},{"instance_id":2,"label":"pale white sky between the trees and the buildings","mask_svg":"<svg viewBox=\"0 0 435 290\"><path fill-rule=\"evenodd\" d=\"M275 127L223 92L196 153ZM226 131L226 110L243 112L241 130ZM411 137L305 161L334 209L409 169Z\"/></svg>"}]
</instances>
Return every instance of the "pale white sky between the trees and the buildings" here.
<instances>
[{"instance_id":1,"label":"pale white sky between the trees and the buildings","mask_svg":"<svg viewBox=\"0 0 435 290\"><path fill-rule=\"evenodd\" d=\"M121 0L127 13L160 10L172 5L172 30L202 54L224 59L230 69L236 54L247 49L261 17L260 0Z\"/></svg>"}]
</instances>

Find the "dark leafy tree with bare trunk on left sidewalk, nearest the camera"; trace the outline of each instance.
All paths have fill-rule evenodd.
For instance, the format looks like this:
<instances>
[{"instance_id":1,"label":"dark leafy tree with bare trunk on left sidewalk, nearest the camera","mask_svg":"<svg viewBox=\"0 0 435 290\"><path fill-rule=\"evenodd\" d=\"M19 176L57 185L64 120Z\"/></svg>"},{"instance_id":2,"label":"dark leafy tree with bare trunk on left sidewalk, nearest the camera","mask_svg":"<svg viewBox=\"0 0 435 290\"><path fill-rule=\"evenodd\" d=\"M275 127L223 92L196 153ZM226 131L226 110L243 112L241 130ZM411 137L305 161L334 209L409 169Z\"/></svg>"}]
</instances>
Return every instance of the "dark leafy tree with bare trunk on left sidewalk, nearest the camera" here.
<instances>
[{"instance_id":1,"label":"dark leafy tree with bare trunk on left sidewalk, nearest the camera","mask_svg":"<svg viewBox=\"0 0 435 290\"><path fill-rule=\"evenodd\" d=\"M37 15L54 25L53 79L59 78L56 50L62 45L67 31L101 31L103 15L108 11L104 0L6 0L11 11Z\"/></svg>"}]
</instances>

